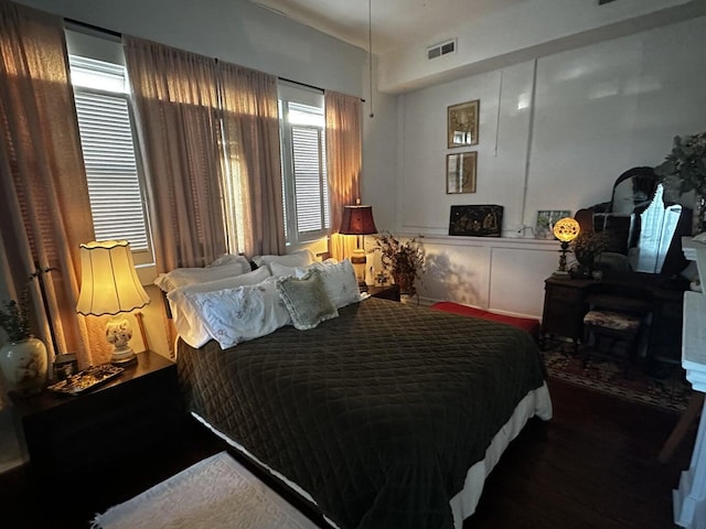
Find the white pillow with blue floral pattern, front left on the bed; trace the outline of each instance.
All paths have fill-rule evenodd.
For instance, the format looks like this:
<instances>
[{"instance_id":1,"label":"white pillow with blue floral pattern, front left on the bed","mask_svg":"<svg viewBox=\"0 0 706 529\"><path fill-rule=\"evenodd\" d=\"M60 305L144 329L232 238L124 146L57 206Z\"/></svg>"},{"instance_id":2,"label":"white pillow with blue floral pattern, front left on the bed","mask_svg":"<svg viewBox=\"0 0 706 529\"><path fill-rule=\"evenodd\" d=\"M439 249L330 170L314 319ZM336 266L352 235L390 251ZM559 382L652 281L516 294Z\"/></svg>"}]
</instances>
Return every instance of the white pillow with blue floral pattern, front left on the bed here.
<instances>
[{"instance_id":1,"label":"white pillow with blue floral pattern, front left on the bed","mask_svg":"<svg viewBox=\"0 0 706 529\"><path fill-rule=\"evenodd\" d=\"M259 338L291 323L275 285L276 278L261 283L215 292L189 294L203 323L221 348Z\"/></svg>"}]
</instances>

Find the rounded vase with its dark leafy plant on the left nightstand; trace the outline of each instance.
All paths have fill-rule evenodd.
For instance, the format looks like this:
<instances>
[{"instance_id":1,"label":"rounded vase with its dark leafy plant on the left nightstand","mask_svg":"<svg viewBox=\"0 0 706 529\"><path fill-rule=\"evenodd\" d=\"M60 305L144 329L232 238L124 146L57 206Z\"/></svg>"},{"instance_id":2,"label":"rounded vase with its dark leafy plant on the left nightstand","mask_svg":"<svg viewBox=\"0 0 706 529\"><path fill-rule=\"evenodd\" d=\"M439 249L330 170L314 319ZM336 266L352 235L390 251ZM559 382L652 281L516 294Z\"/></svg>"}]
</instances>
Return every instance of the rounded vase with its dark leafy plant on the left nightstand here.
<instances>
[{"instance_id":1,"label":"rounded vase with its dark leafy plant on the left nightstand","mask_svg":"<svg viewBox=\"0 0 706 529\"><path fill-rule=\"evenodd\" d=\"M4 302L4 307L0 309L0 327L9 338L0 348L0 370L7 390L20 395L41 391L46 384L49 359L42 341L30 333L26 292L20 303L14 300Z\"/></svg>"}]
</instances>

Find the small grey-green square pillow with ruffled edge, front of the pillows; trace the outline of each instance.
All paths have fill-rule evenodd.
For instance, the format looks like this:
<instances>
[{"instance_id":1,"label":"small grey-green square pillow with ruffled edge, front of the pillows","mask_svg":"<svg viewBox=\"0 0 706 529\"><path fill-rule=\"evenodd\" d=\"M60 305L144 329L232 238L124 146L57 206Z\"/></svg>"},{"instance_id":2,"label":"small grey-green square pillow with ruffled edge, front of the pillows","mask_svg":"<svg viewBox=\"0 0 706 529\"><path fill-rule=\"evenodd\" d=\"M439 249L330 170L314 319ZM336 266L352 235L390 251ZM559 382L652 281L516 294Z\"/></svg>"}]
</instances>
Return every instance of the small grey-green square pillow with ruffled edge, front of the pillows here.
<instances>
[{"instance_id":1,"label":"small grey-green square pillow with ruffled edge, front of the pillows","mask_svg":"<svg viewBox=\"0 0 706 529\"><path fill-rule=\"evenodd\" d=\"M311 270L303 278L277 279L277 292L285 302L295 327L300 331L314 328L321 322L339 315L323 287L320 270Z\"/></svg>"}]
</instances>

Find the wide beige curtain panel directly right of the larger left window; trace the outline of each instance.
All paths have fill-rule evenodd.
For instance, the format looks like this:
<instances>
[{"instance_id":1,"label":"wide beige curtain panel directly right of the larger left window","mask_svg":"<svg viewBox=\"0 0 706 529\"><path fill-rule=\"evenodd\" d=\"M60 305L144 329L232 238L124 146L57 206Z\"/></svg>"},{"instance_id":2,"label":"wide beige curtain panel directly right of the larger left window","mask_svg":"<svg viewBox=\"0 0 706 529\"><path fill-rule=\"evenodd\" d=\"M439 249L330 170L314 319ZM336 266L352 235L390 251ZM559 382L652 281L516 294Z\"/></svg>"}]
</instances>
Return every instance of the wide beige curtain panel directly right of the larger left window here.
<instances>
[{"instance_id":1,"label":"wide beige curtain panel directly right of the larger left window","mask_svg":"<svg viewBox=\"0 0 706 529\"><path fill-rule=\"evenodd\" d=\"M148 173L158 271L226 251L215 60L124 37Z\"/></svg>"}]
</instances>

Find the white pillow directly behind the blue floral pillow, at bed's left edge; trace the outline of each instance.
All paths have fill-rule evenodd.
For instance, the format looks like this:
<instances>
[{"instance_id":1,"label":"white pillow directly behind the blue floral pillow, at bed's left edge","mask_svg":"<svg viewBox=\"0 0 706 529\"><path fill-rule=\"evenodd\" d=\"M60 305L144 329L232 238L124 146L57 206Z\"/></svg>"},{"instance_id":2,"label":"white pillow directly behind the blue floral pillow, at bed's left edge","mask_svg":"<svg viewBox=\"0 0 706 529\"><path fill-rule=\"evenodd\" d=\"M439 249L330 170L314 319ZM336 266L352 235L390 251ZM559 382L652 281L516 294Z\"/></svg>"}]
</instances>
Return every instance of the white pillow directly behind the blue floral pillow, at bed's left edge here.
<instances>
[{"instance_id":1,"label":"white pillow directly behind the blue floral pillow, at bed's left edge","mask_svg":"<svg viewBox=\"0 0 706 529\"><path fill-rule=\"evenodd\" d=\"M169 306L172 311L172 320L176 332L184 342L192 347L201 347L211 339L211 334L208 334L208 330L201 317L200 309L192 301L191 295L257 284L268 277L269 270L267 268L258 268L252 272L233 278L208 281L206 283L195 283L172 290L167 294L167 299L169 300Z\"/></svg>"}]
</instances>

